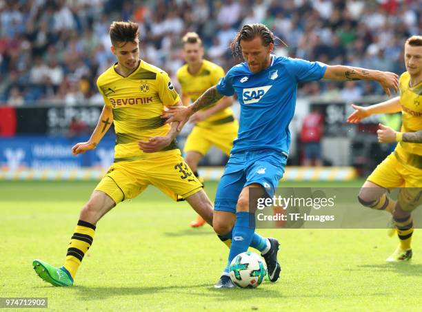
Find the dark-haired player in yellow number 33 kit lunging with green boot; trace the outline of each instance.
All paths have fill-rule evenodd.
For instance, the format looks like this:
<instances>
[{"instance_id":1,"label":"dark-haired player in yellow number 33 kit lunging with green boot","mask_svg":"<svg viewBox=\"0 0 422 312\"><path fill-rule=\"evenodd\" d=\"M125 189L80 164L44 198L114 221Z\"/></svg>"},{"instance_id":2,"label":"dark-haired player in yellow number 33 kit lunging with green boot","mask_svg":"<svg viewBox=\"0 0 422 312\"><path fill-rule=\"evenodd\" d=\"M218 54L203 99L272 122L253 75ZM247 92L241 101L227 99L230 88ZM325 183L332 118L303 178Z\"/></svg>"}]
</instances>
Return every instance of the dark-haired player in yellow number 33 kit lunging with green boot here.
<instances>
[{"instance_id":1,"label":"dark-haired player in yellow number 33 kit lunging with green boot","mask_svg":"<svg viewBox=\"0 0 422 312\"><path fill-rule=\"evenodd\" d=\"M168 74L139 59L138 38L137 23L113 22L110 26L111 51L117 63L97 81L105 105L90 140L74 145L72 154L94 149L114 123L114 163L81 209L63 267L32 262L37 274L55 286L72 286L100 218L148 185L174 200L181 196L212 224L212 203L174 141L178 123L168 125L160 118L164 106L181 105L179 95Z\"/></svg>"}]
</instances>

